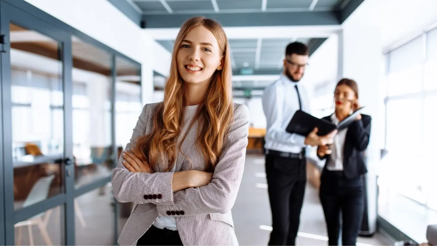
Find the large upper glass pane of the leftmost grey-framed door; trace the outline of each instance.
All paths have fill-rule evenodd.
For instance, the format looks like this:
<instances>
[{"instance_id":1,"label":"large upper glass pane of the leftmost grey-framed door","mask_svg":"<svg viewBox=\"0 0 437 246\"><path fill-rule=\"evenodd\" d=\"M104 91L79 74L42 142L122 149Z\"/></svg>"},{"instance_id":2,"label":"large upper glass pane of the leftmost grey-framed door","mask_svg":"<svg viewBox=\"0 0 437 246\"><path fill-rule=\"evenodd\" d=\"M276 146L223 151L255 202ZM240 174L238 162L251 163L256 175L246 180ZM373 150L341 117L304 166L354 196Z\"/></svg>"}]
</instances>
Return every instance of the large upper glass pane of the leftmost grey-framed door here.
<instances>
[{"instance_id":1,"label":"large upper glass pane of the leftmost grey-framed door","mask_svg":"<svg viewBox=\"0 0 437 246\"><path fill-rule=\"evenodd\" d=\"M64 153L60 43L10 24L14 208L63 191ZM47 177L43 191L38 185ZM32 196L37 192L38 197Z\"/></svg>"}]
</instances>

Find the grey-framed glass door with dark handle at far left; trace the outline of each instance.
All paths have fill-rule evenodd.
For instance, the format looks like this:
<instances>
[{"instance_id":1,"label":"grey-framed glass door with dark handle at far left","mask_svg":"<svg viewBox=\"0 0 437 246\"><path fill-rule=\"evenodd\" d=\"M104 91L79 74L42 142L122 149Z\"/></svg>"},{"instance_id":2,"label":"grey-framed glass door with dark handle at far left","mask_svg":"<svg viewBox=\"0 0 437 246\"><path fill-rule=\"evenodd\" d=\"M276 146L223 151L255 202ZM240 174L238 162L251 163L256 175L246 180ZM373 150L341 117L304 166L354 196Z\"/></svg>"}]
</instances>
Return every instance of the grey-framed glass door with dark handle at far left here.
<instances>
[{"instance_id":1,"label":"grey-framed glass door with dark handle at far left","mask_svg":"<svg viewBox=\"0 0 437 246\"><path fill-rule=\"evenodd\" d=\"M0 4L5 244L74 244L71 40Z\"/></svg>"}]
</instances>

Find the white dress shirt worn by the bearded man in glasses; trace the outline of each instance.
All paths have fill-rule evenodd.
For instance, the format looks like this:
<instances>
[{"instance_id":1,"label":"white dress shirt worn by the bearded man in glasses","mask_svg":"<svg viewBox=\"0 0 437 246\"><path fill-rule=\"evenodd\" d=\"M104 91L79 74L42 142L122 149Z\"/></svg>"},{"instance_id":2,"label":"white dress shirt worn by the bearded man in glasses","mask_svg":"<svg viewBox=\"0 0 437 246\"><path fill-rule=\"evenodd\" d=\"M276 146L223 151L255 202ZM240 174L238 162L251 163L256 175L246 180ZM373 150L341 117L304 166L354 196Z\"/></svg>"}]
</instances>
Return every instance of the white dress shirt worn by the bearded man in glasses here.
<instances>
[{"instance_id":1,"label":"white dress shirt worn by the bearded man in glasses","mask_svg":"<svg viewBox=\"0 0 437 246\"><path fill-rule=\"evenodd\" d=\"M291 118L299 110L295 85L298 86L302 111L310 113L307 91L300 83L291 81L284 74L264 90L263 111L267 119L265 149L300 153L306 147L306 136L285 131Z\"/></svg>"}]
</instances>

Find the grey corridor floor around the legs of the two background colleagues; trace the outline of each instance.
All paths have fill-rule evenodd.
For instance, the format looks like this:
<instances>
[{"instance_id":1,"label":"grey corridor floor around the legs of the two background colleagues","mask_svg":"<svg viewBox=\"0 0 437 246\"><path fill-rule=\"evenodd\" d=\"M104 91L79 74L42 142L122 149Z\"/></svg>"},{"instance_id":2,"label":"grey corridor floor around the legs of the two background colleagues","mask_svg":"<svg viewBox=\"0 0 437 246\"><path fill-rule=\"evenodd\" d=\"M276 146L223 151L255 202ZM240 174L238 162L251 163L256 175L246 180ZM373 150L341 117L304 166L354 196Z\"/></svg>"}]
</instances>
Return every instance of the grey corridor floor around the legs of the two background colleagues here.
<instances>
[{"instance_id":1,"label":"grey corridor floor around the legs of the two background colleagues","mask_svg":"<svg viewBox=\"0 0 437 246\"><path fill-rule=\"evenodd\" d=\"M246 156L243 181L232 208L235 231L240 245L267 245L271 213L264 173L264 156ZM305 191L297 245L327 245L326 225L317 191L309 184ZM357 239L358 246L388 245L379 233Z\"/></svg>"}]
</instances>

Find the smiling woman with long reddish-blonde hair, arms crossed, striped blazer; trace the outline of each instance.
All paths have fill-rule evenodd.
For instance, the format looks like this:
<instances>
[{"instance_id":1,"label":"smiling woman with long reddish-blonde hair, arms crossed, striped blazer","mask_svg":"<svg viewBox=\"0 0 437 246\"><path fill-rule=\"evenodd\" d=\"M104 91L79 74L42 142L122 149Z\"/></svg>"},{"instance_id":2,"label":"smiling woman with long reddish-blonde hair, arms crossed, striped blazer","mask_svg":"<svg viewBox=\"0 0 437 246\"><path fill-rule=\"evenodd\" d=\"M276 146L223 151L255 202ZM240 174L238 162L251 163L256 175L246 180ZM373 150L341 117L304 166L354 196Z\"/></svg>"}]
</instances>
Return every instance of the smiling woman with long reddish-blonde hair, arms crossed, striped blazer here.
<instances>
[{"instance_id":1,"label":"smiling woman with long reddish-blonde hair, arms crossed, striped blazer","mask_svg":"<svg viewBox=\"0 0 437 246\"><path fill-rule=\"evenodd\" d=\"M120 245L236 245L231 216L243 175L249 110L232 101L222 27L194 17L174 42L163 102L146 104L112 173L135 207Z\"/></svg>"}]
</instances>

